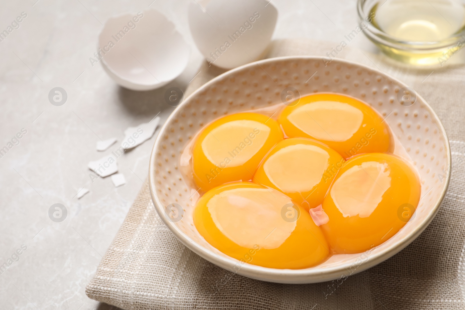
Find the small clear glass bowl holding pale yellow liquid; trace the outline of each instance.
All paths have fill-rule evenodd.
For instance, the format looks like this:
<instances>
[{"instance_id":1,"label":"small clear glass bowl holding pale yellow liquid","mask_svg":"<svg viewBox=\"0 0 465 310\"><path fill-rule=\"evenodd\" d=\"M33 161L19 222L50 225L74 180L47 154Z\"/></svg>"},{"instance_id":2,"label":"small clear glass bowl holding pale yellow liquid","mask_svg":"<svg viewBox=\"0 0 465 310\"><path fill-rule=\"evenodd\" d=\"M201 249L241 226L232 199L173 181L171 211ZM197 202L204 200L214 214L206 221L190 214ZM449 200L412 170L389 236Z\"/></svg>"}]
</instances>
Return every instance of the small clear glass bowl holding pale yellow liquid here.
<instances>
[{"instance_id":1,"label":"small clear glass bowl holding pale yellow liquid","mask_svg":"<svg viewBox=\"0 0 465 310\"><path fill-rule=\"evenodd\" d=\"M465 6L462 0L358 0L357 11L360 27L368 39L387 56L410 65L443 66L465 46ZM399 23L396 29L398 35L392 35L392 28L391 33L383 30L379 23L379 13L384 15L385 24ZM428 21L435 17L435 23ZM409 18L411 20L407 20ZM403 26L404 29L401 29ZM436 29L431 31L430 38L425 33L419 32L418 36L412 33L414 27L419 29L421 26ZM410 40L407 38L409 36Z\"/></svg>"}]
</instances>

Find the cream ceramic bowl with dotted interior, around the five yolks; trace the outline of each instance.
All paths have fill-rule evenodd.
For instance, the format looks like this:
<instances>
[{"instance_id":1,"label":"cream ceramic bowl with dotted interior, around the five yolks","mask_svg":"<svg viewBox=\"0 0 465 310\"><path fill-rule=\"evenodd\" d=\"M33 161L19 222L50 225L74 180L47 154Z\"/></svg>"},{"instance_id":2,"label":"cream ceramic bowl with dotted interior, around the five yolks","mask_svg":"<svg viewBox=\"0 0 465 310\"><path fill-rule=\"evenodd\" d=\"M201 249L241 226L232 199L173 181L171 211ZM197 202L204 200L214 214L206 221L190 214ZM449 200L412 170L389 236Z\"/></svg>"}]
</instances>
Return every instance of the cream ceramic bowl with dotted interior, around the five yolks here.
<instances>
[{"instance_id":1,"label":"cream ceramic bowl with dotted interior, around the five yolks","mask_svg":"<svg viewBox=\"0 0 465 310\"><path fill-rule=\"evenodd\" d=\"M192 153L185 152L186 147L193 145L204 127L226 115L253 112L279 122L282 111L292 106L281 100L281 93L286 93L288 87L297 89L301 99L314 93L342 94L358 99L377 112L382 124L388 125L395 138L391 147L399 149L398 155L412 159L411 165L417 170L421 184L418 207L414 216L382 244L361 253L331 253L321 263L308 268L282 269L253 264L261 249L257 251L252 247L240 259L226 255L209 244L195 227L195 206L205 192L193 182L192 171L183 171L192 165ZM444 197L450 175L450 147L444 127L419 94L413 105L400 104L398 93L402 93L404 87L407 86L399 80L368 66L342 59L325 64L320 57L310 56L265 59L228 71L189 95L161 128L149 162L149 187L154 209L187 248L211 263L245 277L277 283L315 283L339 279L341 275L350 276L379 264L410 244L431 222ZM286 131L283 132L284 137L289 138ZM318 140L308 136L301 138ZM368 141L372 143L371 139ZM353 147L359 149L362 142L359 140L357 143L360 144L355 143ZM272 186L269 188L282 192ZM173 205L182 209L180 219L170 218L167 210ZM323 201L319 206L321 210L324 205ZM148 207L151 208L151 204ZM402 213L402 205L399 210ZM317 213L319 211L311 216ZM325 224L319 224L325 235ZM327 242L330 244L331 240ZM331 249L328 247L328 250Z\"/></svg>"}]
</instances>

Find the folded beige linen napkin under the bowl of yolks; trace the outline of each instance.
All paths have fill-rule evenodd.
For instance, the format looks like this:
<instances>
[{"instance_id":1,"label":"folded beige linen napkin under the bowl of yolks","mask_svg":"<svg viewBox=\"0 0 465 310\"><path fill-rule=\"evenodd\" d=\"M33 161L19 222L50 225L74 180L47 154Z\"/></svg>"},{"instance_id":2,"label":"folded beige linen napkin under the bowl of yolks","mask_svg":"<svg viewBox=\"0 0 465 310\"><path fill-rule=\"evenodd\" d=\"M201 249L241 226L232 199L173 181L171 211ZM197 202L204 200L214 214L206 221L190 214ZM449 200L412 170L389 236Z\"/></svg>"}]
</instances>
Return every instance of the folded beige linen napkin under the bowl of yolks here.
<instances>
[{"instance_id":1,"label":"folded beige linen napkin under the bowl of yolks","mask_svg":"<svg viewBox=\"0 0 465 310\"><path fill-rule=\"evenodd\" d=\"M267 57L324 56L335 47L274 41ZM445 125L452 180L438 215L405 250L345 280L274 284L223 270L181 244L142 188L86 294L122 309L465 309L465 69L394 67L380 55L346 47L338 57L390 73L421 94ZM224 70L200 68L186 93ZM430 74L431 73L431 74ZM430 75L429 75L430 74ZM429 75L429 76L428 76Z\"/></svg>"}]
</instances>

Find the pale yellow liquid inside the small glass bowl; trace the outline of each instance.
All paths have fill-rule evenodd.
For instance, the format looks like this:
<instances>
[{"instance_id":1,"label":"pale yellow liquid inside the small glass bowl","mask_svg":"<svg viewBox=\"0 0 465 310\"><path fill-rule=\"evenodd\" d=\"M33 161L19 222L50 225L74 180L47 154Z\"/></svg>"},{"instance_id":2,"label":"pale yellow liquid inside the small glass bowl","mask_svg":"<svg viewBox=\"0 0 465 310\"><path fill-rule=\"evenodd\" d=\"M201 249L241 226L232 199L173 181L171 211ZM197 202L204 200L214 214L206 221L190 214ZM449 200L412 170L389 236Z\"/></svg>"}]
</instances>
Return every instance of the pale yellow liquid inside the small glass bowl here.
<instances>
[{"instance_id":1,"label":"pale yellow liquid inside the small glass bowl","mask_svg":"<svg viewBox=\"0 0 465 310\"><path fill-rule=\"evenodd\" d=\"M403 42L441 42L465 29L465 5L461 0L381 0L372 7L370 16L374 16L373 26ZM450 54L453 46L424 52L379 47L403 62L434 65L443 53Z\"/></svg>"}]
</instances>

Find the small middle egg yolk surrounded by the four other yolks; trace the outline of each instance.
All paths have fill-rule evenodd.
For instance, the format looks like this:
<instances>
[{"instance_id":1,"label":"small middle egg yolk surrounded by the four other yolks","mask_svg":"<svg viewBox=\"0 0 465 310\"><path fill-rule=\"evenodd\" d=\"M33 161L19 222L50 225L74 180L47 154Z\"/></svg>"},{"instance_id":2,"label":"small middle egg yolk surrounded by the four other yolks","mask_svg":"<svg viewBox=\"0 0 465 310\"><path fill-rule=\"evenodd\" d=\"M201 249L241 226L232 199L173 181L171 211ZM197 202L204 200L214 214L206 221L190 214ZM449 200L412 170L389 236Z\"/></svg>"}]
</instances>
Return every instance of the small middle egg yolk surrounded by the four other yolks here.
<instances>
[{"instance_id":1,"label":"small middle egg yolk surrounded by the four other yolks","mask_svg":"<svg viewBox=\"0 0 465 310\"><path fill-rule=\"evenodd\" d=\"M272 148L252 181L282 191L308 211L321 204L344 162L321 142L289 138Z\"/></svg>"}]
</instances>

